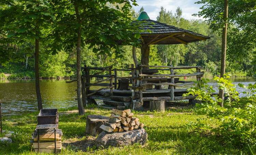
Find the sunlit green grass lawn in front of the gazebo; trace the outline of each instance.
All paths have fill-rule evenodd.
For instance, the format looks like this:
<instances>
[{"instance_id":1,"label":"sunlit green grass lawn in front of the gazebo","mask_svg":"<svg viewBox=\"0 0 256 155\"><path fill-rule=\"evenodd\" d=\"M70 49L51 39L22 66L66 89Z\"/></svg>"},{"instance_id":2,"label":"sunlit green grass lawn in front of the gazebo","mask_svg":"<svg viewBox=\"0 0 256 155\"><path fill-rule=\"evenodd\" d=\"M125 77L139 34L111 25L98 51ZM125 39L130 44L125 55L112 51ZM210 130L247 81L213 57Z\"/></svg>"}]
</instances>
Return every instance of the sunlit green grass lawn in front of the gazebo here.
<instances>
[{"instance_id":1,"label":"sunlit green grass lawn in front of the gazebo","mask_svg":"<svg viewBox=\"0 0 256 155\"><path fill-rule=\"evenodd\" d=\"M77 110L76 107L58 109L59 128L63 132L62 142L84 141L88 138L85 135L86 116L91 114L109 116L110 110L99 109L93 105L85 109L85 115L79 116L78 113L71 113L70 111ZM189 108L169 108L164 113L157 111L133 111L134 115L140 119L140 122L145 124L145 130L148 134L148 141L141 146L135 144L132 146L125 146L120 148L99 148L95 145L87 148L87 152L77 151L74 147L69 145L62 154L251 154L248 150L244 152L236 146L233 146L230 141L223 140L218 135L211 135L209 133L196 133L187 130L186 124L196 121L199 117L191 112ZM31 140L31 133L37 124L38 112L30 113L23 116L3 119L3 130L15 131L19 133L13 139L10 145L1 144L0 154L35 154L32 147L29 145ZM216 126L217 121L207 122L211 126ZM86 137L87 136L87 137ZM252 151L254 151L252 149ZM255 152L255 151L254 151Z\"/></svg>"}]
</instances>

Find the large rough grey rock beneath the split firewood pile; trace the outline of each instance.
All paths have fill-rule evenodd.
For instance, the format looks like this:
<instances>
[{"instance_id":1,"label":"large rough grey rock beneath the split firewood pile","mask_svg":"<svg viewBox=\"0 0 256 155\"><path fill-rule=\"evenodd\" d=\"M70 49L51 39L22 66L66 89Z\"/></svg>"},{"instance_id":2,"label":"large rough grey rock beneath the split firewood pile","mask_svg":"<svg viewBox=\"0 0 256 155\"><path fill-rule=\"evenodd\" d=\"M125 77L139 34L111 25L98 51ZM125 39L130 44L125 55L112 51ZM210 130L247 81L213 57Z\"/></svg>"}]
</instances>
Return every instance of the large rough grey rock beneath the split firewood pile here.
<instances>
[{"instance_id":1,"label":"large rough grey rock beneath the split firewood pile","mask_svg":"<svg viewBox=\"0 0 256 155\"><path fill-rule=\"evenodd\" d=\"M105 147L118 147L123 145L129 145L134 143L145 144L147 140L147 132L144 128L138 128L135 130L125 131L125 132L105 132L100 133L96 139L96 146Z\"/></svg>"}]
</instances>

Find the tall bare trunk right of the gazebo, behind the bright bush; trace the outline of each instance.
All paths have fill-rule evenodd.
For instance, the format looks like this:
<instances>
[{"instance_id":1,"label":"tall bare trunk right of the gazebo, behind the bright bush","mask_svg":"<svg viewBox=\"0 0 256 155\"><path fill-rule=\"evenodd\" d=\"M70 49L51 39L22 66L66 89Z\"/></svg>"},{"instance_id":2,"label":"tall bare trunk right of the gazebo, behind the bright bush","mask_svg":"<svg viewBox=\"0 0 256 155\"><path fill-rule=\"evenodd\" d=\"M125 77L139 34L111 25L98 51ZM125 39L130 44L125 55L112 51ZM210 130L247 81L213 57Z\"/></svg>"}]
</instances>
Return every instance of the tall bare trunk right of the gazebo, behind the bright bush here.
<instances>
[{"instance_id":1,"label":"tall bare trunk right of the gazebo, behind the bright bush","mask_svg":"<svg viewBox=\"0 0 256 155\"><path fill-rule=\"evenodd\" d=\"M228 0L224 0L224 16L223 21L225 22L225 27L222 29L222 49L221 49L221 78L225 74L226 66L226 48L227 48L227 29L228 29ZM219 89L219 98L223 100L224 90ZM219 102L219 106L223 107L223 102Z\"/></svg>"}]
</instances>

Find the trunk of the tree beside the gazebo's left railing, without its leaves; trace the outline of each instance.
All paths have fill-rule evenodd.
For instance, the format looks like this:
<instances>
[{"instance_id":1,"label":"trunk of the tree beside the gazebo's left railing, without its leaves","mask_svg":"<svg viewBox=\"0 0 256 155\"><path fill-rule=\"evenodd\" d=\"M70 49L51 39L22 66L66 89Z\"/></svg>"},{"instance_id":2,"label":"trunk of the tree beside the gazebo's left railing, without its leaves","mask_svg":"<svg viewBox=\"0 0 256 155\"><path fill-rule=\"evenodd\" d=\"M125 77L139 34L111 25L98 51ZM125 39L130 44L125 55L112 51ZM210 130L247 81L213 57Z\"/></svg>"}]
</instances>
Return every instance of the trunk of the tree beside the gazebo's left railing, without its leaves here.
<instances>
[{"instance_id":1,"label":"trunk of the tree beside the gazebo's left railing, without its leaves","mask_svg":"<svg viewBox=\"0 0 256 155\"><path fill-rule=\"evenodd\" d=\"M76 79L77 79L77 104L78 104L78 111L79 115L84 115L84 107L83 107L83 101L82 101L82 81L81 81L81 33L82 33L82 27L81 27L81 20L80 15L78 11L78 7L76 6L76 2L74 2L75 5L75 14L77 22L80 24L80 27L77 30L77 45L76 45Z\"/></svg>"}]
</instances>

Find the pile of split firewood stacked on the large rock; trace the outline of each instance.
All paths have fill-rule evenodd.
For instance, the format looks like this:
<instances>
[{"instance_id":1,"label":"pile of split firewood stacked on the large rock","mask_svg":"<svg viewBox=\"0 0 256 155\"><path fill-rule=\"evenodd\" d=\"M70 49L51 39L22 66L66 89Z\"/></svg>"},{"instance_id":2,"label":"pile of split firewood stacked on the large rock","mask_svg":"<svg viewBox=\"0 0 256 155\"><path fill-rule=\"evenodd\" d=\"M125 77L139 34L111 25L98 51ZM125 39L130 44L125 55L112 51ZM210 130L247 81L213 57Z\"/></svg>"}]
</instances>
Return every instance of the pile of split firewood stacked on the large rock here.
<instances>
[{"instance_id":1,"label":"pile of split firewood stacked on the large rock","mask_svg":"<svg viewBox=\"0 0 256 155\"><path fill-rule=\"evenodd\" d=\"M123 132L143 127L144 124L140 123L138 118L133 117L131 109L120 111L112 109L112 113L109 122L104 122L100 128L106 132Z\"/></svg>"}]
</instances>

